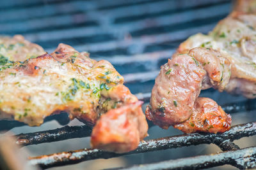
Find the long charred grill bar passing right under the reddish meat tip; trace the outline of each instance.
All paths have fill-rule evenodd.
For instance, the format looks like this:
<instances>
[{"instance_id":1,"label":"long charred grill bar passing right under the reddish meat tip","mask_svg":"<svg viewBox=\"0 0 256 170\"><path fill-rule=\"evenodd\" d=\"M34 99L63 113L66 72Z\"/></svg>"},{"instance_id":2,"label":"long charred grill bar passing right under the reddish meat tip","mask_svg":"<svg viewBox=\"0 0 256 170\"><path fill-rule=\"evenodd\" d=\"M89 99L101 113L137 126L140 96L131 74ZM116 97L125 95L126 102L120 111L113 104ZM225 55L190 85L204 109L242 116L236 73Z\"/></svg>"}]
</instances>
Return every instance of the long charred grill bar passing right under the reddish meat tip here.
<instances>
[{"instance_id":1,"label":"long charred grill bar passing right under the reddish meat tip","mask_svg":"<svg viewBox=\"0 0 256 170\"><path fill-rule=\"evenodd\" d=\"M141 141L138 148L128 153L111 153L104 152L97 149L82 149L70 152L54 153L52 155L42 155L39 157L30 158L30 163L42 168L63 166L67 164L76 164L85 160L92 159L109 159L112 157L118 157L121 155L129 155L133 153L152 152L156 150L166 150L169 148L178 148L182 146L200 145L200 144L219 144L223 141L234 141L247 136L253 136L256 134L256 122L236 125L230 129L230 131L223 134L183 134L179 136L172 136L167 138L151 139L148 141Z\"/></svg>"}]
</instances>

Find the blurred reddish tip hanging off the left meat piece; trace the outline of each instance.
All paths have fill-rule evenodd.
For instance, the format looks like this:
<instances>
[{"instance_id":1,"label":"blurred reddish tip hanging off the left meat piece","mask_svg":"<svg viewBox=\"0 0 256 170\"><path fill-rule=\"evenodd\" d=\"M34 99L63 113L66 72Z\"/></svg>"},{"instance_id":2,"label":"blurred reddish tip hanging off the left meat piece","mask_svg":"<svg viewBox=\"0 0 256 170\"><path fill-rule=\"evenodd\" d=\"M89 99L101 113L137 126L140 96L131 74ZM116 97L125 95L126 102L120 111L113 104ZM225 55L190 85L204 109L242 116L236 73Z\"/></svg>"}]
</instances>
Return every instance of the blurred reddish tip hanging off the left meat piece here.
<instances>
[{"instance_id":1,"label":"blurred reddish tip hanging off the left meat piece","mask_svg":"<svg viewBox=\"0 0 256 170\"><path fill-rule=\"evenodd\" d=\"M119 153L137 148L148 129L141 104L127 104L102 115L92 131L92 146Z\"/></svg>"}]
</instances>

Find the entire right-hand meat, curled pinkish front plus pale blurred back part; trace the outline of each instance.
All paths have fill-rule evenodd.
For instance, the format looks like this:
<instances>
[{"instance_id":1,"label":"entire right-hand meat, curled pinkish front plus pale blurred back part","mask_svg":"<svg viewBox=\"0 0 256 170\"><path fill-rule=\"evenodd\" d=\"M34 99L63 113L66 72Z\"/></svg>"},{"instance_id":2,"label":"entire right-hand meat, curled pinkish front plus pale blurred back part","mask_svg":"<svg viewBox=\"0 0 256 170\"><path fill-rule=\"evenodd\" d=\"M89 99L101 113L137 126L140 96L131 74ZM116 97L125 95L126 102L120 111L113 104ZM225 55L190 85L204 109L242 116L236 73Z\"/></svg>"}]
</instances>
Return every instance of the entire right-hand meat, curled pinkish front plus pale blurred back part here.
<instances>
[{"instance_id":1,"label":"entire right-hand meat, curled pinkish front plus pale blurred back part","mask_svg":"<svg viewBox=\"0 0 256 170\"><path fill-rule=\"evenodd\" d=\"M208 35L196 34L180 44L161 68L146 111L154 124L187 133L224 132L230 129L230 115L211 99L198 97L200 90L213 87L256 97L255 1L237 4Z\"/></svg>"}]
</instances>

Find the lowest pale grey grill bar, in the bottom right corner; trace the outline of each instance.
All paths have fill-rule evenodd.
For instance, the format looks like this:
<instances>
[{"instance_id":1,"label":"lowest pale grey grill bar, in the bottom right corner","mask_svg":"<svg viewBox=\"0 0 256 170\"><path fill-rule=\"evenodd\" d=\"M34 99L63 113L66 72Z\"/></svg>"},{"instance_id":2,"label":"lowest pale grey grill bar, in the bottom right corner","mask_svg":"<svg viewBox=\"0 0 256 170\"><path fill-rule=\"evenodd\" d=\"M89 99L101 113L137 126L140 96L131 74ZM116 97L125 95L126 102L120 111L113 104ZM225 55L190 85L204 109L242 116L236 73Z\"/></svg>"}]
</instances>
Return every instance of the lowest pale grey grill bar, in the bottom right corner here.
<instances>
[{"instance_id":1,"label":"lowest pale grey grill bar, in the bottom right corner","mask_svg":"<svg viewBox=\"0 0 256 170\"><path fill-rule=\"evenodd\" d=\"M153 170L153 169L202 169L205 167L236 165L239 169L256 167L256 147L244 148L242 150L214 153L184 159L167 160L154 164L143 164L139 166L126 167L129 170Z\"/></svg>"}]
</instances>

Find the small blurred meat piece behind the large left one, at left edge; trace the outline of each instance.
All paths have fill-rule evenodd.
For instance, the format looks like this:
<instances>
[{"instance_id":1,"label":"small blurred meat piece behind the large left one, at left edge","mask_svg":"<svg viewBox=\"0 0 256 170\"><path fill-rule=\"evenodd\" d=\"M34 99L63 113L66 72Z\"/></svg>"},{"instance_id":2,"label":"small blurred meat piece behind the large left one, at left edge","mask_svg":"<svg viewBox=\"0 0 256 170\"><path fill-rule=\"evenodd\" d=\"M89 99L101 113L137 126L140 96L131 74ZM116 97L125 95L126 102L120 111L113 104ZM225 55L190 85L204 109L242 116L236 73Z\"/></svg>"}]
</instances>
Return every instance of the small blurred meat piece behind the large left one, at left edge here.
<instances>
[{"instance_id":1,"label":"small blurred meat piece behind the large left one, at left edge","mask_svg":"<svg viewBox=\"0 0 256 170\"><path fill-rule=\"evenodd\" d=\"M13 61L24 61L44 53L41 46L27 41L23 36L16 35L12 38L0 36L0 65Z\"/></svg>"}]
</instances>

